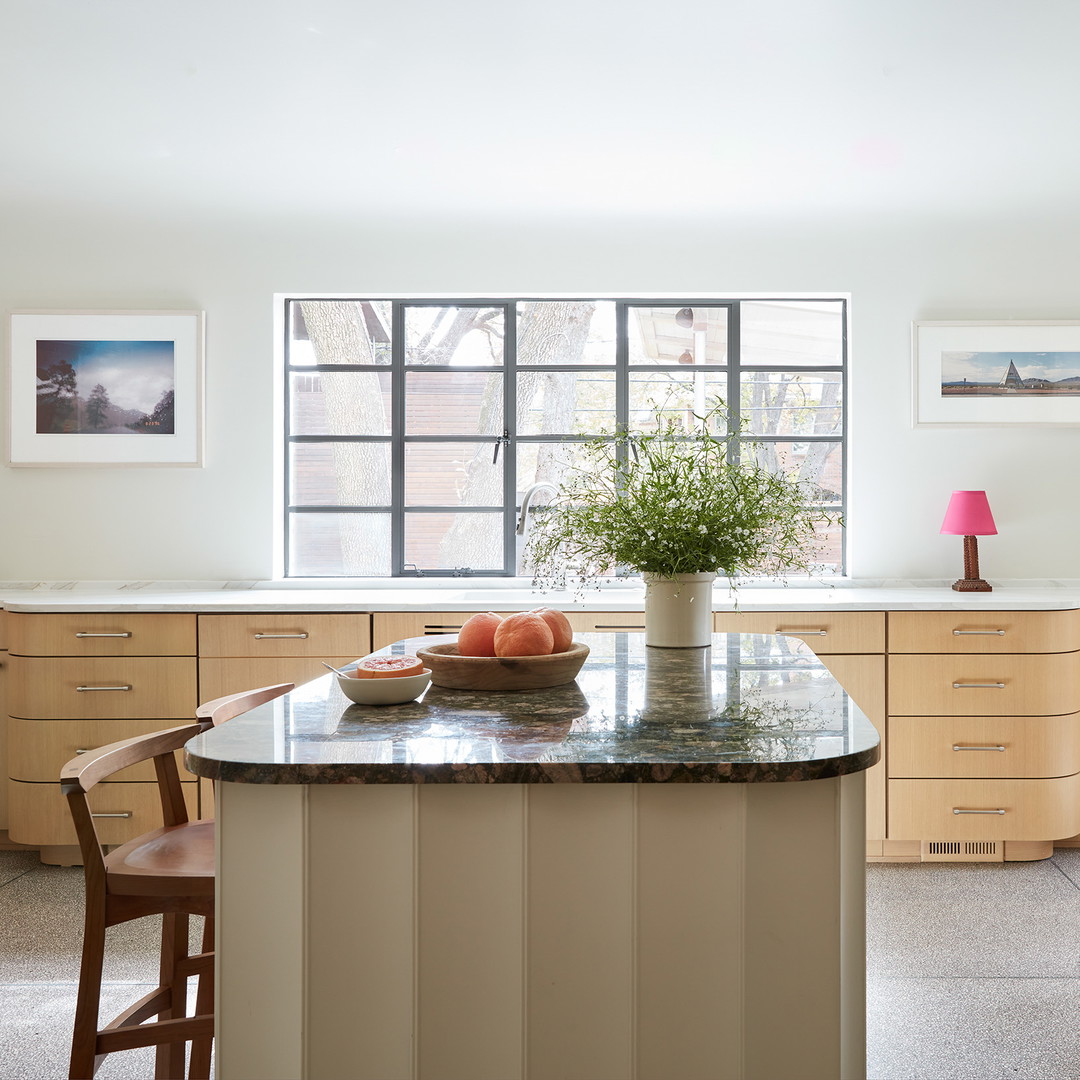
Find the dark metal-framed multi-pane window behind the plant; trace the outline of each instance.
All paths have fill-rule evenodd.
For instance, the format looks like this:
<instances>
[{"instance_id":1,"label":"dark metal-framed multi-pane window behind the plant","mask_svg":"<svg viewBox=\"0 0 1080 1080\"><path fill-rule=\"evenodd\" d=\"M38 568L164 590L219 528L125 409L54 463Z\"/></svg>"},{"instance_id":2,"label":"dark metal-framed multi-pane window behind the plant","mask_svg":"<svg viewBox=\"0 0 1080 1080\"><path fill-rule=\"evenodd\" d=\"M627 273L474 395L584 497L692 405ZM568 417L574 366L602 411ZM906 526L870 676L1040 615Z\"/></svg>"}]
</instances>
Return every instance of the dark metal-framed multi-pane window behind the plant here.
<instances>
[{"instance_id":1,"label":"dark metal-framed multi-pane window behind the plant","mask_svg":"<svg viewBox=\"0 0 1080 1080\"><path fill-rule=\"evenodd\" d=\"M729 453L843 510L841 298L296 297L285 315L288 577L513 575L526 492L657 406L723 400ZM842 571L841 530L823 540Z\"/></svg>"}]
</instances>

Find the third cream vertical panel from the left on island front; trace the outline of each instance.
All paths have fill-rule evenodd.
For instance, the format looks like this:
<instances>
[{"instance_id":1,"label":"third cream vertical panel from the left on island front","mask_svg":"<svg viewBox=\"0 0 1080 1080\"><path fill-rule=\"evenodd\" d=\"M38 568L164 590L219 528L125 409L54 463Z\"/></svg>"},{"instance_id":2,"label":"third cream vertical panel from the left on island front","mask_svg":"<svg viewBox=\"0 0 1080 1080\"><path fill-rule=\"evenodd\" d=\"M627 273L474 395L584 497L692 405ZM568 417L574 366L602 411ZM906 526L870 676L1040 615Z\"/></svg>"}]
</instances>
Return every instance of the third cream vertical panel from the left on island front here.
<instances>
[{"instance_id":1,"label":"third cream vertical panel from the left on island front","mask_svg":"<svg viewBox=\"0 0 1080 1080\"><path fill-rule=\"evenodd\" d=\"M419 788L420 1080L522 1075L524 793Z\"/></svg>"}]
</instances>

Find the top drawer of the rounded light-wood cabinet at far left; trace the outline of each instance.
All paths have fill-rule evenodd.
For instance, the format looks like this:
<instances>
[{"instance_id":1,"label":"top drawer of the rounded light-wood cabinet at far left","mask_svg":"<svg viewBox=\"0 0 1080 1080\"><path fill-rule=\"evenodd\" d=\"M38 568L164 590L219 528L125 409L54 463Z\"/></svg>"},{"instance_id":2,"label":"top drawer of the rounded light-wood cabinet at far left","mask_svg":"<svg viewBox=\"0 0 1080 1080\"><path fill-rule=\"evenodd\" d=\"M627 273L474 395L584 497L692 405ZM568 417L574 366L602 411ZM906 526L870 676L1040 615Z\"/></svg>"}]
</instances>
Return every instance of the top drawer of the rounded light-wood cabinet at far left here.
<instances>
[{"instance_id":1,"label":"top drawer of the rounded light-wood cabinet at far left","mask_svg":"<svg viewBox=\"0 0 1080 1080\"><path fill-rule=\"evenodd\" d=\"M11 652L23 657L193 657L193 615L8 612Z\"/></svg>"}]
</instances>

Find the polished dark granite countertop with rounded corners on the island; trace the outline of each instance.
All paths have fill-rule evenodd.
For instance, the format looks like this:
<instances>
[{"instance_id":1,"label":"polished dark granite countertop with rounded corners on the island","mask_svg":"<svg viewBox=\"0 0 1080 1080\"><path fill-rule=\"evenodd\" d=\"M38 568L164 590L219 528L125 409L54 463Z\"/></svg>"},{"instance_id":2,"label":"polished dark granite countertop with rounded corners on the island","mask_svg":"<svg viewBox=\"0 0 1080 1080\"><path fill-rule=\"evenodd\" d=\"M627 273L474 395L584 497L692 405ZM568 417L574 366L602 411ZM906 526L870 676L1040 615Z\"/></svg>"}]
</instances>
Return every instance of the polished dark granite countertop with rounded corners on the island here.
<instances>
[{"instance_id":1,"label":"polished dark granite countertop with rounded corners on the island","mask_svg":"<svg viewBox=\"0 0 1080 1080\"><path fill-rule=\"evenodd\" d=\"M387 649L455 640L411 638ZM326 675L198 735L188 767L252 784L762 783L859 772L877 731L800 640L715 634L657 649L579 634L578 678L518 692L429 687L354 705Z\"/></svg>"}]
</instances>

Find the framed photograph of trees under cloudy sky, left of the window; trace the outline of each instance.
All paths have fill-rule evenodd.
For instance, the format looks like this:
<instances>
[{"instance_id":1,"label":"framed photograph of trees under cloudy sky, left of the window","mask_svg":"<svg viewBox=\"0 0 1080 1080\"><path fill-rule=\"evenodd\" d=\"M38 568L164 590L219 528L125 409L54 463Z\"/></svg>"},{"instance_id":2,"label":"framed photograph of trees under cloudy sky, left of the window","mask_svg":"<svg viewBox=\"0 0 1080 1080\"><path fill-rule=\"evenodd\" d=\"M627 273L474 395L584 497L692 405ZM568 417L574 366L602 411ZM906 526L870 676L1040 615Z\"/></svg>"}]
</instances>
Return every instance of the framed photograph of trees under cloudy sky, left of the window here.
<instances>
[{"instance_id":1,"label":"framed photograph of trees under cloudy sky, left of the window","mask_svg":"<svg viewBox=\"0 0 1080 1080\"><path fill-rule=\"evenodd\" d=\"M201 311L11 314L13 465L201 465Z\"/></svg>"}]
</instances>

